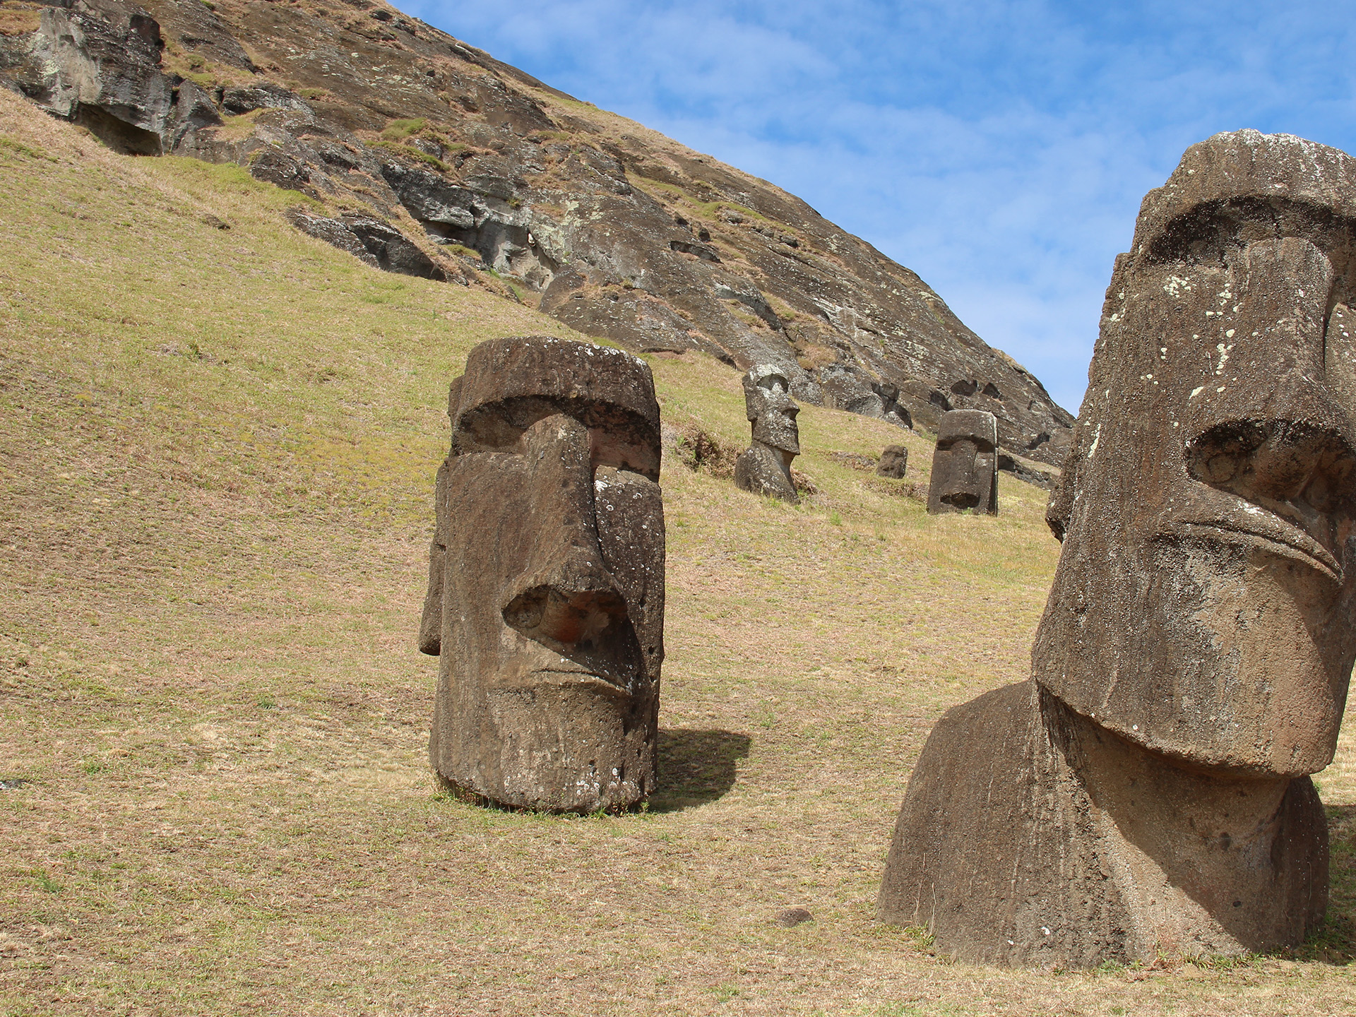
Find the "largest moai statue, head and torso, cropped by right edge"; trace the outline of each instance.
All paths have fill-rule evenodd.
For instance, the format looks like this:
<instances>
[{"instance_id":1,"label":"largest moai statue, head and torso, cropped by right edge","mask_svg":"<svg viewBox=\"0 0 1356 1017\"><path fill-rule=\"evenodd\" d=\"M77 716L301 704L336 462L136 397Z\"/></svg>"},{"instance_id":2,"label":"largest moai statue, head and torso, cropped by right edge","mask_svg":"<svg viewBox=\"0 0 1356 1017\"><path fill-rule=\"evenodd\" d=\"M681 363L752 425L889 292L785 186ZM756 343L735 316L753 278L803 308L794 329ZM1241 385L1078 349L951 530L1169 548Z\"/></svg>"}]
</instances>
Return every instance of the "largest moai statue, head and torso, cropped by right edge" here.
<instances>
[{"instance_id":1,"label":"largest moai statue, head and torso, cropped by right edge","mask_svg":"<svg viewBox=\"0 0 1356 1017\"><path fill-rule=\"evenodd\" d=\"M1188 149L1116 259L1032 679L949 711L880 891L974 961L1292 946L1356 658L1356 160Z\"/></svg>"}]
</instances>

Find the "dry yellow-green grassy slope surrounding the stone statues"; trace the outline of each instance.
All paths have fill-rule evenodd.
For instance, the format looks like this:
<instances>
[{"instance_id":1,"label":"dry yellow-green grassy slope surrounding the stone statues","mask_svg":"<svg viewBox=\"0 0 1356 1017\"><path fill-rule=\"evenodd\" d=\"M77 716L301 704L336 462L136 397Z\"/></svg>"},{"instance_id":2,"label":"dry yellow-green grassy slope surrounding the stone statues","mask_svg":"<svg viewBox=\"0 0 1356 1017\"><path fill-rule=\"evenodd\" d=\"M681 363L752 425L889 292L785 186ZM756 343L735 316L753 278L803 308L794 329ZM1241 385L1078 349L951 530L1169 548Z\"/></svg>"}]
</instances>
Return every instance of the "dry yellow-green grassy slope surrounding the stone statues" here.
<instances>
[{"instance_id":1,"label":"dry yellow-green grassy slope surrounding the stone statues","mask_svg":"<svg viewBox=\"0 0 1356 1017\"><path fill-rule=\"evenodd\" d=\"M439 795L414 636L446 385L481 339L568 332L3 91L0 195L0 1012L1356 1008L1349 736L1332 922L1292 959L997 972L876 923L910 766L1025 677L1056 545L1006 476L998 518L932 518L845 465L900 439L861 416L803 410L799 509L666 460L650 811ZM743 446L732 372L652 367L666 423Z\"/></svg>"}]
</instances>

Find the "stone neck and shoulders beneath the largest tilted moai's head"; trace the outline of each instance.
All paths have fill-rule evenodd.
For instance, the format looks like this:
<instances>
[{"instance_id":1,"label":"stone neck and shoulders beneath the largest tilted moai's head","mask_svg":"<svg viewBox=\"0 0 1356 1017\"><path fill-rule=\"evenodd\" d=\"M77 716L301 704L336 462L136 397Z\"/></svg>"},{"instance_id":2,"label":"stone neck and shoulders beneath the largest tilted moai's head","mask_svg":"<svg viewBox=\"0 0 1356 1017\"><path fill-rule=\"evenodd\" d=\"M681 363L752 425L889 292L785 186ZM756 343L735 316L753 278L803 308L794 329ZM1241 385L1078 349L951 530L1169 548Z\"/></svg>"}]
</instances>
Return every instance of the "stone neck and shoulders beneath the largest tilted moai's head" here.
<instances>
[{"instance_id":1,"label":"stone neck and shoulders beneath the largest tilted moai's head","mask_svg":"<svg viewBox=\"0 0 1356 1017\"><path fill-rule=\"evenodd\" d=\"M1321 921L1326 830L1307 777L1193 773L1021 682L948 711L928 738L880 915L984 964L1269 949Z\"/></svg>"}]
</instances>

